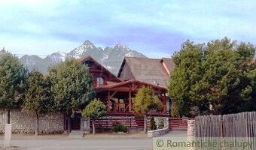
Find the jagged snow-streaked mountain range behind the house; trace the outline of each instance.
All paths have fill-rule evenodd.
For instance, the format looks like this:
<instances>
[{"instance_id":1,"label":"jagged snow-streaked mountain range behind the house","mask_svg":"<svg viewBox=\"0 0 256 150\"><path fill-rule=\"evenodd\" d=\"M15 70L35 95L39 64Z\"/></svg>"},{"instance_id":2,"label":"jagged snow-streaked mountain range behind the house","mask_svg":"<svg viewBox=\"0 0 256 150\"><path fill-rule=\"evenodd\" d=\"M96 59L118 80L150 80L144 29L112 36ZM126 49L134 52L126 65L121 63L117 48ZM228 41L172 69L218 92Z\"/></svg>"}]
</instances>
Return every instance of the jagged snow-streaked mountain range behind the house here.
<instances>
[{"instance_id":1,"label":"jagged snow-streaked mountain range behind the house","mask_svg":"<svg viewBox=\"0 0 256 150\"><path fill-rule=\"evenodd\" d=\"M64 61L66 57L81 58L84 55L91 55L97 62L101 63L105 68L108 68L113 74L117 74L120 65L125 56L129 57L146 57L142 53L136 50L130 49L126 46L121 46L117 44L114 47L96 47L90 40L85 40L85 42L73 49L69 53L55 52L51 55L47 55L46 58L38 57L38 55L24 55L20 58L20 62L32 71L36 69L41 73L46 73L49 67L53 67L58 62Z\"/></svg>"}]
</instances>

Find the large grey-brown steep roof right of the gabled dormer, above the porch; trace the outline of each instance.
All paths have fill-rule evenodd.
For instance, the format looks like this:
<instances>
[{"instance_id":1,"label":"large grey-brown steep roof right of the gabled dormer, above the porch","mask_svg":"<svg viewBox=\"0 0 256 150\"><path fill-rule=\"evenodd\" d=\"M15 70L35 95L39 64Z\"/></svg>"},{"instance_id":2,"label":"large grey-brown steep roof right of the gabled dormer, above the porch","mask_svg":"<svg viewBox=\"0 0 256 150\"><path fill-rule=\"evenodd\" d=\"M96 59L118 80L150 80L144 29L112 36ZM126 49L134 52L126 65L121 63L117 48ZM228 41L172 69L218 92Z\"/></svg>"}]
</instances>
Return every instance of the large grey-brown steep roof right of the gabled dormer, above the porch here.
<instances>
[{"instance_id":1,"label":"large grey-brown steep roof right of the gabled dormer, above the porch","mask_svg":"<svg viewBox=\"0 0 256 150\"><path fill-rule=\"evenodd\" d=\"M161 87L167 87L169 84L169 74L163 67L163 62L165 62L167 68L171 69L171 71L173 70L174 64L170 58L157 59L125 57L117 77L120 77L123 65L127 63L135 80Z\"/></svg>"}]
</instances>

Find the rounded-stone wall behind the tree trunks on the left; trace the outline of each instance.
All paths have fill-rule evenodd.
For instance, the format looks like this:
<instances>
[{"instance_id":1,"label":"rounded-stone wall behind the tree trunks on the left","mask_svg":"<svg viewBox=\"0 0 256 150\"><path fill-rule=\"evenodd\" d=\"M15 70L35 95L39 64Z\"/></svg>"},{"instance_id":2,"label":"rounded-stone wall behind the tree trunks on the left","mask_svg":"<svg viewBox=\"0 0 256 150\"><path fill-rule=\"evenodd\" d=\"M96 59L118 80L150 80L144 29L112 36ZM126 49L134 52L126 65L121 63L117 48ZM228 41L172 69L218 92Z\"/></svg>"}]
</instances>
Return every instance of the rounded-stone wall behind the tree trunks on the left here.
<instances>
[{"instance_id":1,"label":"rounded-stone wall behind the tree trunks on the left","mask_svg":"<svg viewBox=\"0 0 256 150\"><path fill-rule=\"evenodd\" d=\"M5 130L5 111L0 110L0 132ZM20 110L11 110L10 123L14 133L34 133L35 114ZM61 113L47 113L39 115L39 133L62 133L64 130L63 115Z\"/></svg>"}]
</instances>

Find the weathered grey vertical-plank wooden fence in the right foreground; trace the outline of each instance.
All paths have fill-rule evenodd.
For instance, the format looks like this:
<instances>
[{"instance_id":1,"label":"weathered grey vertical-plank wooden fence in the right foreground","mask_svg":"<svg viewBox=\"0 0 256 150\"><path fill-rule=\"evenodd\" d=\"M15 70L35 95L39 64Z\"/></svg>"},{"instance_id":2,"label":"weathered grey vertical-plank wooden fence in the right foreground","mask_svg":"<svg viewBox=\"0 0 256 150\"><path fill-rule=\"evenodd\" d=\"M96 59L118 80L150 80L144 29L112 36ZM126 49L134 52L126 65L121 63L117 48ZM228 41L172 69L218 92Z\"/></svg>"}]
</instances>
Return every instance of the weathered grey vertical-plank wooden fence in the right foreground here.
<instances>
[{"instance_id":1,"label":"weathered grey vertical-plank wooden fence in the right foreground","mask_svg":"<svg viewBox=\"0 0 256 150\"><path fill-rule=\"evenodd\" d=\"M209 138L218 143L224 140L233 142L252 142L251 148L239 148L228 146L211 149L256 149L256 112L245 112L230 115L203 115L197 116L196 121L196 137L206 141ZM227 148L228 147L228 148ZM198 148L207 149L207 148Z\"/></svg>"}]
</instances>

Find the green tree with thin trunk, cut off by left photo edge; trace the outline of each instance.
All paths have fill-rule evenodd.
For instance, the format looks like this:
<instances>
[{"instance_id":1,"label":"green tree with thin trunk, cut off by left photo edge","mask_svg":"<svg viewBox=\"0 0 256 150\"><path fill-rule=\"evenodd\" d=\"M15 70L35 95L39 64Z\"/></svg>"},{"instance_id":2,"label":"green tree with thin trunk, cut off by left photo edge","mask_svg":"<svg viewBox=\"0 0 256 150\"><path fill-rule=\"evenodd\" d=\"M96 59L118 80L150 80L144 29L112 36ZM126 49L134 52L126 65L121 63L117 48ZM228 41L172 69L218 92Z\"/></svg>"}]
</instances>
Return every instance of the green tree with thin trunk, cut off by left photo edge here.
<instances>
[{"instance_id":1,"label":"green tree with thin trunk, cut off by left photo edge","mask_svg":"<svg viewBox=\"0 0 256 150\"><path fill-rule=\"evenodd\" d=\"M0 58L0 108L5 109L7 123L10 123L10 110L22 104L24 82L27 71L18 58L5 53Z\"/></svg>"}]
</instances>

